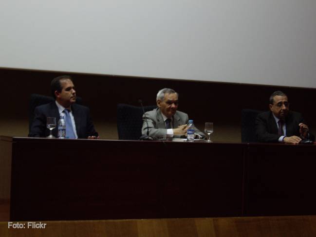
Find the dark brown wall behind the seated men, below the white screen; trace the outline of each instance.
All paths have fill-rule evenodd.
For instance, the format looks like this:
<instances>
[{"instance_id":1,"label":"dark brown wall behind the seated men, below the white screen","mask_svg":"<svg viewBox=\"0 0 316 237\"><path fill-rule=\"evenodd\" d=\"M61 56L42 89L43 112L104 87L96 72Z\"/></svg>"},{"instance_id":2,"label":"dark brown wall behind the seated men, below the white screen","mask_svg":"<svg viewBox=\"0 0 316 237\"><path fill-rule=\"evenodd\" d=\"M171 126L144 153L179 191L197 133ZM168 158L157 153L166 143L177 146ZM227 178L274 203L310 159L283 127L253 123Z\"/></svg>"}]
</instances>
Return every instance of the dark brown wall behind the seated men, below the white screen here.
<instances>
[{"instance_id":1,"label":"dark brown wall behind the seated men, below the white screen","mask_svg":"<svg viewBox=\"0 0 316 237\"><path fill-rule=\"evenodd\" d=\"M145 106L154 105L162 88L179 93L179 110L188 113L198 128L204 130L205 122L214 123L213 141L240 142L241 110L267 110L269 96L276 90L288 95L290 109L301 112L316 133L316 89L0 69L0 135L27 136L30 94L50 95L51 80L63 74L73 77L77 95L91 109L102 139L118 138L118 103L138 106L142 99Z\"/></svg>"}]
</instances>

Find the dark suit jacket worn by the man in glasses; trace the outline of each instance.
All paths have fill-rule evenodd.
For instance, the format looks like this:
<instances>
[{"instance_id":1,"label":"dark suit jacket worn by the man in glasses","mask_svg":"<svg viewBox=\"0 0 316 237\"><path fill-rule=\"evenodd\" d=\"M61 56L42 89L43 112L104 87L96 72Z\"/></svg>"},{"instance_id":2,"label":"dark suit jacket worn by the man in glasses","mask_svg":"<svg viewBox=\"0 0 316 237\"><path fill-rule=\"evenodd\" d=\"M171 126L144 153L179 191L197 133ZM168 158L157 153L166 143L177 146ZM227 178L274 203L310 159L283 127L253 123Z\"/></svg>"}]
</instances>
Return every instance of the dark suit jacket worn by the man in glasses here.
<instances>
[{"instance_id":1,"label":"dark suit jacket worn by the man in glasses","mask_svg":"<svg viewBox=\"0 0 316 237\"><path fill-rule=\"evenodd\" d=\"M302 115L298 112L289 111L285 119L286 136L300 136L298 124L305 123ZM256 135L259 142L279 142L278 125L271 111L258 114L256 118ZM310 140L315 136L310 133Z\"/></svg>"}]
</instances>

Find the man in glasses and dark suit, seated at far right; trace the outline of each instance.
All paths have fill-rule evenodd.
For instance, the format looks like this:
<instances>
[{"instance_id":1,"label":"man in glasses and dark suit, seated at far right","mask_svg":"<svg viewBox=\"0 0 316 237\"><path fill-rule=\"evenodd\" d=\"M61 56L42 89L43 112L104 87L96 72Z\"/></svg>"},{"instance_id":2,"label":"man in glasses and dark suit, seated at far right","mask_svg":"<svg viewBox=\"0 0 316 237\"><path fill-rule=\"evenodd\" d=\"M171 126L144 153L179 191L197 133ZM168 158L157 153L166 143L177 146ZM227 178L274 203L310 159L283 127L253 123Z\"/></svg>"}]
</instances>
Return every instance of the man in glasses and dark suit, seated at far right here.
<instances>
[{"instance_id":1,"label":"man in glasses and dark suit, seated at far right","mask_svg":"<svg viewBox=\"0 0 316 237\"><path fill-rule=\"evenodd\" d=\"M256 134L259 142L298 144L302 139L314 141L302 115L289 110L287 95L275 91L270 96L270 111L256 118Z\"/></svg>"}]
</instances>

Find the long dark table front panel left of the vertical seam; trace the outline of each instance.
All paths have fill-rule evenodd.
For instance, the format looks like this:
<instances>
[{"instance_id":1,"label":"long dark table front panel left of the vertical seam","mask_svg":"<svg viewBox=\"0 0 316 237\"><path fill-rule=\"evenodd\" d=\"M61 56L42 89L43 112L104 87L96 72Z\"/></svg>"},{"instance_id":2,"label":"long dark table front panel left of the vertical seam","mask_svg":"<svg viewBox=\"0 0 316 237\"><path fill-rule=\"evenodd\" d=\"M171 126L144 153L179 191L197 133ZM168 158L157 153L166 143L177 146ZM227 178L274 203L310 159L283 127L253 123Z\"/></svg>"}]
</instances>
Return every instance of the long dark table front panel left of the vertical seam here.
<instances>
[{"instance_id":1,"label":"long dark table front panel left of the vertical seam","mask_svg":"<svg viewBox=\"0 0 316 237\"><path fill-rule=\"evenodd\" d=\"M246 145L13 139L12 220L242 215Z\"/></svg>"}]
</instances>

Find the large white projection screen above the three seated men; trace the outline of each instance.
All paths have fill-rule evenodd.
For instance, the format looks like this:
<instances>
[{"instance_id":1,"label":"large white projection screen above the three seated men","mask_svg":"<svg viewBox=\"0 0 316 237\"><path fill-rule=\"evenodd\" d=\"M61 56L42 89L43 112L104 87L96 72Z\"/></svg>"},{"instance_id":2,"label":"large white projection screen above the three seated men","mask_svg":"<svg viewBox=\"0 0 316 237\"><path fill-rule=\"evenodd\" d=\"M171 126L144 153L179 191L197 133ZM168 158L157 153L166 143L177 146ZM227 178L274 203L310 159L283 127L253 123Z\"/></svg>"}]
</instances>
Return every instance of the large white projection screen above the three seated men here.
<instances>
[{"instance_id":1,"label":"large white projection screen above the three seated men","mask_svg":"<svg viewBox=\"0 0 316 237\"><path fill-rule=\"evenodd\" d=\"M1 0L0 68L316 88L316 0Z\"/></svg>"}]
</instances>

